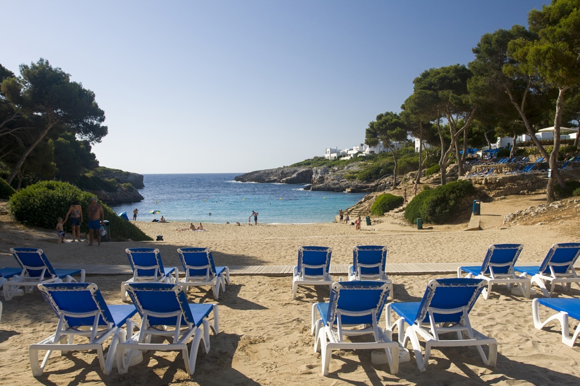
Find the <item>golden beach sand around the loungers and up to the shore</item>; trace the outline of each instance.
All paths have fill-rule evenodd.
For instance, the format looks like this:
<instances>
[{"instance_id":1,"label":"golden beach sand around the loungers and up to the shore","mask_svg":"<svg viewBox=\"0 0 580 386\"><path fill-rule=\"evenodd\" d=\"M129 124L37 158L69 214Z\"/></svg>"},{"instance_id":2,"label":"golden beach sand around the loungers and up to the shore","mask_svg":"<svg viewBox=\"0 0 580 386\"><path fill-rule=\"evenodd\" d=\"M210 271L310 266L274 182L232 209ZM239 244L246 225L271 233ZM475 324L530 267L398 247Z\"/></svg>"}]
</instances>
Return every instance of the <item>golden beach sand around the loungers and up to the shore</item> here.
<instances>
[{"instance_id":1,"label":"golden beach sand around the loungers and up to the shore","mask_svg":"<svg viewBox=\"0 0 580 386\"><path fill-rule=\"evenodd\" d=\"M208 231L176 231L189 223L145 223L137 221L148 235L163 235L162 242L56 244L56 235L14 225L0 216L0 258L8 261L12 246L34 246L45 250L53 262L82 264L128 264L125 248L158 247L166 266L180 266L176 249L182 246L211 247L216 265L289 265L296 263L300 245L333 248L332 263L348 264L354 245L379 244L389 248L387 263L443 263L483 260L492 243L523 243L521 263L539 263L549 246L578 241L578 220L570 218L545 225L502 225L507 213L543 203L543 196L512 196L482 205L482 231L463 232L465 223L433 225L418 231L395 220L362 226L352 225L242 225L204 224ZM577 209L576 209L577 210ZM469 217L467 217L469 221ZM364 222L363 222L364 223ZM528 223L530 223L528 221ZM533 221L531 221L533 223ZM571 231L572 230L572 231ZM114 230L111 230L114 233ZM70 235L67 235L70 238ZM5 264L6 265L6 264ZM447 275L389 275L394 282L395 301L418 301L430 279ZM129 275L87 275L110 304L121 304L119 283ZM338 279L338 276L336 277ZM513 295L498 287L490 300L480 298L470 319L472 326L499 343L495 368L483 366L476 349L434 349L426 372L420 373L414 355L400 365L397 375L388 365L373 365L371 352L333 352L329 377L321 375L320 354L313 352L310 335L311 305L328 300L325 287L299 287L298 300L292 299L292 279L269 276L232 276L231 285L213 301L208 288L192 289L188 297L195 303L218 303L220 333L211 336L208 355L198 353L195 374L187 376L183 358L176 352L147 352L144 361L119 375L100 372L94 352L71 352L49 360L44 376L34 378L28 362L28 345L52 334L57 319L37 290L12 301L3 301L0 322L0 362L3 384L579 384L580 351L561 343L560 326L534 328L531 299ZM494 287L495 290L495 287ZM574 286L560 297L579 297ZM548 312L542 312L542 316ZM384 319L384 316L383 316ZM135 317L139 321L139 317ZM384 321L381 325L384 326ZM576 323L576 322L574 322ZM573 324L571 327L575 327ZM396 334L394 336L396 338ZM410 347L410 344L409 344Z\"/></svg>"}]
</instances>

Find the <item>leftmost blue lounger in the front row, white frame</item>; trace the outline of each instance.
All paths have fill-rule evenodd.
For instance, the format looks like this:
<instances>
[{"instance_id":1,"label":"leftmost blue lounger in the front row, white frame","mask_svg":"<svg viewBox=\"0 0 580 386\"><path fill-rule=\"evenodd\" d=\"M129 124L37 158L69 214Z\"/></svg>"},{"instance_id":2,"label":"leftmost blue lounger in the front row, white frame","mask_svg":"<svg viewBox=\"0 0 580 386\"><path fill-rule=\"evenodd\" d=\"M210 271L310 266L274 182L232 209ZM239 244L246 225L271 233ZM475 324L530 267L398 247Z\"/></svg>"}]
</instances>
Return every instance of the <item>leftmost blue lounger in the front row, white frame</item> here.
<instances>
[{"instance_id":1,"label":"leftmost blue lounger in the front row, white frame","mask_svg":"<svg viewBox=\"0 0 580 386\"><path fill-rule=\"evenodd\" d=\"M135 305L107 305L103 295L92 283L48 283L38 285L38 289L50 304L59 323L56 332L37 344L30 345L30 367L32 374L39 377L44 372L46 362L53 351L96 350L101 370L110 374L115 360L115 351L126 333L133 333L135 323L130 321L137 314ZM121 329L126 325L126 329ZM73 343L75 336L89 339L84 343ZM103 354L103 344L113 336L107 359ZM38 351L46 351L42 364Z\"/></svg>"}]
</instances>

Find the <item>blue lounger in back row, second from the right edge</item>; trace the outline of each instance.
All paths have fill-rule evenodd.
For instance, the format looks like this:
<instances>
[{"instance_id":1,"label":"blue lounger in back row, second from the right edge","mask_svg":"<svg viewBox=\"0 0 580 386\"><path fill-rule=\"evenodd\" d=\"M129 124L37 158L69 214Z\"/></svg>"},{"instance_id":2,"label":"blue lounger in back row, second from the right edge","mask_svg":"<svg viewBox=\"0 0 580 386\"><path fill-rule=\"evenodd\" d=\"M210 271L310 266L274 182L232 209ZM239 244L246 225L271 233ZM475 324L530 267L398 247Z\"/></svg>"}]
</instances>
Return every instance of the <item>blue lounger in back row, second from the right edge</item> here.
<instances>
[{"instance_id":1,"label":"blue lounger in back row, second from the right edge","mask_svg":"<svg viewBox=\"0 0 580 386\"><path fill-rule=\"evenodd\" d=\"M513 284L518 284L521 294L530 297L530 280L516 276L513 265L523 249L521 244L495 244L490 245L483 259L481 267L459 267L457 277L461 278L462 272L466 278L483 279L487 281L488 287L483 289L483 298L488 299L491 287L494 284L506 284L510 288Z\"/></svg>"}]
</instances>

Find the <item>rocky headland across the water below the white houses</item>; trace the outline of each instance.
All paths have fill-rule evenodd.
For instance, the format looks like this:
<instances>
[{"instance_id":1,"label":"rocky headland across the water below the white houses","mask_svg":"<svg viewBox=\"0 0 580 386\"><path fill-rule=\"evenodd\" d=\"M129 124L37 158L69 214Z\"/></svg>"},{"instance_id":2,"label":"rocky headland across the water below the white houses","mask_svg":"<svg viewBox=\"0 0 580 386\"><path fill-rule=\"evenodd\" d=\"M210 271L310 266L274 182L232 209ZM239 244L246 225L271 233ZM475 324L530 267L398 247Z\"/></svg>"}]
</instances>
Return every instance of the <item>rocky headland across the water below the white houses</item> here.
<instances>
[{"instance_id":1,"label":"rocky headland across the water below the white houses","mask_svg":"<svg viewBox=\"0 0 580 386\"><path fill-rule=\"evenodd\" d=\"M375 183L365 184L358 180L346 179L346 174L360 170L360 165L315 167L278 167L277 169L256 170L234 178L240 182L309 184L305 189L343 192L374 191Z\"/></svg>"}]
</instances>

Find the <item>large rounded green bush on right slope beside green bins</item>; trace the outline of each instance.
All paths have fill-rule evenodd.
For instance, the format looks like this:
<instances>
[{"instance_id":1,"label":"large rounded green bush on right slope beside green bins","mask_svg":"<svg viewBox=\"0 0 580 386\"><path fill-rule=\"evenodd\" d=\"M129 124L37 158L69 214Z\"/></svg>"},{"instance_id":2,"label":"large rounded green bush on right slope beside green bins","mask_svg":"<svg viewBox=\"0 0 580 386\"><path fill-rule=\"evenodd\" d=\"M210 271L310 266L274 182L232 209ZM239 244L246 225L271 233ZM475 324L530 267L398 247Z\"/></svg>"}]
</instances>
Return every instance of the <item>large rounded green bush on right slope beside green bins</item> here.
<instances>
[{"instance_id":1,"label":"large rounded green bush on right slope beside green bins","mask_svg":"<svg viewBox=\"0 0 580 386\"><path fill-rule=\"evenodd\" d=\"M411 224L416 219L422 219L425 223L443 224L458 214L474 194L475 189L467 180L423 190L405 208L405 219Z\"/></svg>"}]
</instances>

